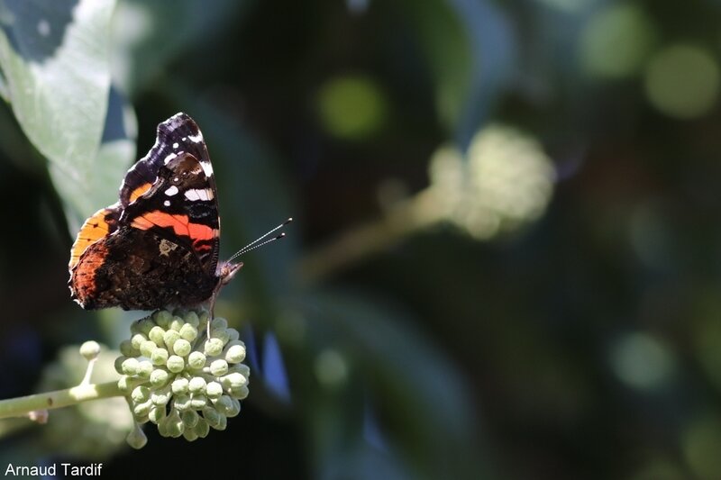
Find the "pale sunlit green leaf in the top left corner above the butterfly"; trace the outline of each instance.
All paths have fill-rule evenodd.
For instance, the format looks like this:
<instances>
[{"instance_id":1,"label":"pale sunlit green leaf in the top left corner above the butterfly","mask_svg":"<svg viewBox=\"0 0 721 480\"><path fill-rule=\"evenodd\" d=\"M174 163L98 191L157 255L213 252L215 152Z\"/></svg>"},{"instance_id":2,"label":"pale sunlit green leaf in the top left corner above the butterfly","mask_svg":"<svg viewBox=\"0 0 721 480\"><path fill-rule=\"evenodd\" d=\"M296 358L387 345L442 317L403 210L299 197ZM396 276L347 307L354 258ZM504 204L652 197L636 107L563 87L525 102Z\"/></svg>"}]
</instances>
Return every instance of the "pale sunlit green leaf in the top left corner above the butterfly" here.
<instances>
[{"instance_id":1,"label":"pale sunlit green leaf in the top left corner above the butterfly","mask_svg":"<svg viewBox=\"0 0 721 480\"><path fill-rule=\"evenodd\" d=\"M116 200L127 145L105 145L114 0L0 2L0 68L17 121L50 161L68 220ZM127 139L127 136L125 137ZM99 157L98 157L99 155ZM100 158L102 163L96 162Z\"/></svg>"}]
</instances>

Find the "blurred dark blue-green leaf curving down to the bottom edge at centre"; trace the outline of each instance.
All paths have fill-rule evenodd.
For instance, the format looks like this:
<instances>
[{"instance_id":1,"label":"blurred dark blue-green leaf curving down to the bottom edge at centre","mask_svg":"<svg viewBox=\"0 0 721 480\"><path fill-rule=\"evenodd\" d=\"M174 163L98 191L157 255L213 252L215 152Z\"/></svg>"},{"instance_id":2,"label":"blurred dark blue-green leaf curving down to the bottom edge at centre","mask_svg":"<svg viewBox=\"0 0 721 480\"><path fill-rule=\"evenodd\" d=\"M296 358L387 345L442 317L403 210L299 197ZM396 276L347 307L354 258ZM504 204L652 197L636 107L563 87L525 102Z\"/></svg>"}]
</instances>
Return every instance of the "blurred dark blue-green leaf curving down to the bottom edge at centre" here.
<instances>
[{"instance_id":1,"label":"blurred dark blue-green leaf curving down to the bottom edge at centre","mask_svg":"<svg viewBox=\"0 0 721 480\"><path fill-rule=\"evenodd\" d=\"M344 352L352 362L351 371L360 372L367 391L372 392L372 402L380 417L393 419L392 425L383 429L388 431L391 452L401 452L412 471L422 471L428 477L481 477L479 451L474 444L475 419L465 386L459 373L432 343L398 312L356 295L338 292L306 295L301 308L308 319L306 340L315 342L306 349L333 346ZM351 382L349 388L358 387ZM324 441L322 434L330 432L337 436L342 421L351 425L347 441L353 438L355 420L351 417L357 414L353 411L357 407L348 398L324 405L323 412L333 413L334 426L330 429L326 414L315 412L318 407L314 405L327 403L328 396L317 391L303 393L314 396L313 400L304 401L315 417L314 428L320 431L315 434L316 439L321 435L316 447L334 449L338 439ZM349 418L343 419L338 409L347 411ZM339 455L337 451L328 454ZM449 463L448 458L456 461Z\"/></svg>"}]
</instances>

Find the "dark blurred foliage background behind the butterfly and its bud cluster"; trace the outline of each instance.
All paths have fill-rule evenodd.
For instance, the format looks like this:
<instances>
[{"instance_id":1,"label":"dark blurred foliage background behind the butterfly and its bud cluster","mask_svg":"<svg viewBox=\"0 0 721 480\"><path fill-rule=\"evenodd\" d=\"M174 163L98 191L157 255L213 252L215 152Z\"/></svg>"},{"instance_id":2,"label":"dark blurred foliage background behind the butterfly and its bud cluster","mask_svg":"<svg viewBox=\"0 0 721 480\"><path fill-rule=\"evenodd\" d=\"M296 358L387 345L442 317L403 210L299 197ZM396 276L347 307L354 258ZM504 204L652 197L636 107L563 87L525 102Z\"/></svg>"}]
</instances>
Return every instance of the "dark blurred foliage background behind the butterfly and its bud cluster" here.
<instances>
[{"instance_id":1,"label":"dark blurred foliage background behind the butterfly and its bud cluster","mask_svg":"<svg viewBox=\"0 0 721 480\"><path fill-rule=\"evenodd\" d=\"M0 466L721 478L719 25L716 0L119 2L134 158L185 111L224 256L296 222L218 307L251 352L228 430L70 451L50 412L0 427ZM73 223L0 117L7 398L141 314L70 301Z\"/></svg>"}]
</instances>

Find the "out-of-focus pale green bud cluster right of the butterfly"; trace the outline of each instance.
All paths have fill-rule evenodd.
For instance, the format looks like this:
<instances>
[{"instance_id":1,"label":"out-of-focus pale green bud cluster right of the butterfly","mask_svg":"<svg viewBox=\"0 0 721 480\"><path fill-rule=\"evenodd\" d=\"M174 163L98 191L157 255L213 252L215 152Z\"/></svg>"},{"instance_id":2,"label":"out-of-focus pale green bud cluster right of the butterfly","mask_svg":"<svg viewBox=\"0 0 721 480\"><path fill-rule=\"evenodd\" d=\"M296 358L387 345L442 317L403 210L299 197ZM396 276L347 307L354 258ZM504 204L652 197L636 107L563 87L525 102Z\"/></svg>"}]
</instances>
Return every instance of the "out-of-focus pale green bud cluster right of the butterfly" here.
<instances>
[{"instance_id":1,"label":"out-of-focus pale green bud cluster right of the butterfly","mask_svg":"<svg viewBox=\"0 0 721 480\"><path fill-rule=\"evenodd\" d=\"M512 127L490 124L466 152L438 149L431 190L418 213L450 221L476 239L510 233L538 219L551 201L555 169L540 142Z\"/></svg>"}]
</instances>

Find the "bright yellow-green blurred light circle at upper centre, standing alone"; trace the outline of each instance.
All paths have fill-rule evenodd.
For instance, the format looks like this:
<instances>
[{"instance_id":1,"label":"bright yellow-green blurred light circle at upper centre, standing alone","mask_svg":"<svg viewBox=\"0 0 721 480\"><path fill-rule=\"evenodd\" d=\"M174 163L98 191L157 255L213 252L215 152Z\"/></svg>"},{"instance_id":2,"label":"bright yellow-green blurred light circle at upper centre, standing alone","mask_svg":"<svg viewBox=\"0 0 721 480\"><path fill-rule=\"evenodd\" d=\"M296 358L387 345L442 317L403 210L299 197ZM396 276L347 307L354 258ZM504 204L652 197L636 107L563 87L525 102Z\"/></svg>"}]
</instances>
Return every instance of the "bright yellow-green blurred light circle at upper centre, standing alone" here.
<instances>
[{"instance_id":1,"label":"bright yellow-green blurred light circle at upper centre, standing alone","mask_svg":"<svg viewBox=\"0 0 721 480\"><path fill-rule=\"evenodd\" d=\"M317 107L325 131L345 140L363 140L386 121L387 101L369 77L336 77L318 92Z\"/></svg>"}]
</instances>

